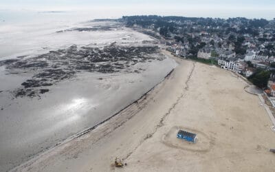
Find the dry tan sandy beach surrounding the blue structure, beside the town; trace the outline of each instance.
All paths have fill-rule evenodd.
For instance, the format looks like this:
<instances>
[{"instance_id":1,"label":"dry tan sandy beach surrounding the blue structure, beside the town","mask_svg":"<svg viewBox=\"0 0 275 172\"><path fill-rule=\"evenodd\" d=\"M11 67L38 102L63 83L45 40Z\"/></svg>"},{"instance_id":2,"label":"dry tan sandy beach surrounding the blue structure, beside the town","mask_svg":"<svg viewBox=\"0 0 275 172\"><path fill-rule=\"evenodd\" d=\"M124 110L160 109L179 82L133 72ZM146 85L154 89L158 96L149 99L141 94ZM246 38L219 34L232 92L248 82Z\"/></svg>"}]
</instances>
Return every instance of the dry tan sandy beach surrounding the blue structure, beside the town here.
<instances>
[{"instance_id":1,"label":"dry tan sandy beach surrounding the blue structure, beside the town","mask_svg":"<svg viewBox=\"0 0 275 172\"><path fill-rule=\"evenodd\" d=\"M259 97L230 72L176 61L120 114L14 171L274 171L275 133ZM197 143L177 139L178 129L197 133ZM115 157L127 166L115 169Z\"/></svg>"}]
</instances>

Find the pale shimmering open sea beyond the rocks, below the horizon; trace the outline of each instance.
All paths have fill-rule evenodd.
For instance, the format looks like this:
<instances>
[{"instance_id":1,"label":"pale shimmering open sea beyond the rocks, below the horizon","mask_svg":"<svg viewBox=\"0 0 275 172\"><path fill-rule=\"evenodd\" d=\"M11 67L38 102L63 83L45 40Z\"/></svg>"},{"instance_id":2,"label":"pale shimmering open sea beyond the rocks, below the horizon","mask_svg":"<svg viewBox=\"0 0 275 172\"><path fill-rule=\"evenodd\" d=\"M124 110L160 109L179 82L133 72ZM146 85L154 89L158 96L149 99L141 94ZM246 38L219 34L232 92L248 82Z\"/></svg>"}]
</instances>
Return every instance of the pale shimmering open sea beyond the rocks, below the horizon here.
<instances>
[{"instance_id":1,"label":"pale shimmering open sea beyond the rocks, below the horizon","mask_svg":"<svg viewBox=\"0 0 275 172\"><path fill-rule=\"evenodd\" d=\"M0 59L41 54L78 43L80 39L74 40L72 36L58 38L54 32L77 27L81 22L96 18L93 12L0 10Z\"/></svg>"}]
</instances>

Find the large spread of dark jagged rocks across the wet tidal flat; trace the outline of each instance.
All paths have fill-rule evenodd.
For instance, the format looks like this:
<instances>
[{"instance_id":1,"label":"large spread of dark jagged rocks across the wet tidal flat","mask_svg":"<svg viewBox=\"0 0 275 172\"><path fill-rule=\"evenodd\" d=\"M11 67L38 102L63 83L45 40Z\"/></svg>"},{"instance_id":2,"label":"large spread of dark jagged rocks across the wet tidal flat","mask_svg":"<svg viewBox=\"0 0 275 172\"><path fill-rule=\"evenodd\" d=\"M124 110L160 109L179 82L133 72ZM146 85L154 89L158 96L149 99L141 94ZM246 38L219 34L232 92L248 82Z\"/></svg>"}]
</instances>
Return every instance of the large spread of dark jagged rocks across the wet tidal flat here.
<instances>
[{"instance_id":1,"label":"large spread of dark jagged rocks across the wet tidal flat","mask_svg":"<svg viewBox=\"0 0 275 172\"><path fill-rule=\"evenodd\" d=\"M21 84L21 88L12 91L15 97L34 97L49 92L45 87L72 78L77 72L113 73L136 63L150 62L153 59L163 60L162 56L156 58L150 55L157 52L159 48L155 46L118 46L114 43L106 47L72 45L65 50L50 51L34 58L0 61L0 66L34 73L31 79Z\"/></svg>"}]
</instances>

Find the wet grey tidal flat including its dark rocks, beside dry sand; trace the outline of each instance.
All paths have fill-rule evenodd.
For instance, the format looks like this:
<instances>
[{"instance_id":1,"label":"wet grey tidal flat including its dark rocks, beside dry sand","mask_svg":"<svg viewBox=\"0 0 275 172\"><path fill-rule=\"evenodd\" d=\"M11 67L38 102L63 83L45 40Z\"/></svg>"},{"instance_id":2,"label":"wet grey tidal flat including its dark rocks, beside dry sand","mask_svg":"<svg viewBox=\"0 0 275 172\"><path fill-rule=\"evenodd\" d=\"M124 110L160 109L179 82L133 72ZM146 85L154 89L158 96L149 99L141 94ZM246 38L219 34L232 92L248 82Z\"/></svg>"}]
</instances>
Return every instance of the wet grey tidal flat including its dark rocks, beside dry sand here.
<instances>
[{"instance_id":1,"label":"wet grey tidal flat including its dark rocks, beside dry sand","mask_svg":"<svg viewBox=\"0 0 275 172\"><path fill-rule=\"evenodd\" d=\"M39 48L23 45L22 56L0 61L0 171L109 118L176 66L149 36L115 22L83 23L32 43Z\"/></svg>"}]
</instances>

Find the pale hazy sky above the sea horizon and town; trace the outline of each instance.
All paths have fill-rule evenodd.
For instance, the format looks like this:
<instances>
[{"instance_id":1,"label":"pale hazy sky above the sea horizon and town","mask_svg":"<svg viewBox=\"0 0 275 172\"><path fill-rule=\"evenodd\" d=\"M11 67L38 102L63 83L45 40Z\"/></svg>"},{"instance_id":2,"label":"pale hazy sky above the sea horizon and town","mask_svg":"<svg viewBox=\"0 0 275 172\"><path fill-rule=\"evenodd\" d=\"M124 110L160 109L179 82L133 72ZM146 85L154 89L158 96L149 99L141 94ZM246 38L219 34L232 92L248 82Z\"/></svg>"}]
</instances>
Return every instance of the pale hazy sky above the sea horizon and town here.
<instances>
[{"instance_id":1,"label":"pale hazy sky above the sea horizon and town","mask_svg":"<svg viewBox=\"0 0 275 172\"><path fill-rule=\"evenodd\" d=\"M97 10L112 15L275 18L274 0L0 0L0 10Z\"/></svg>"}]
</instances>

